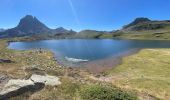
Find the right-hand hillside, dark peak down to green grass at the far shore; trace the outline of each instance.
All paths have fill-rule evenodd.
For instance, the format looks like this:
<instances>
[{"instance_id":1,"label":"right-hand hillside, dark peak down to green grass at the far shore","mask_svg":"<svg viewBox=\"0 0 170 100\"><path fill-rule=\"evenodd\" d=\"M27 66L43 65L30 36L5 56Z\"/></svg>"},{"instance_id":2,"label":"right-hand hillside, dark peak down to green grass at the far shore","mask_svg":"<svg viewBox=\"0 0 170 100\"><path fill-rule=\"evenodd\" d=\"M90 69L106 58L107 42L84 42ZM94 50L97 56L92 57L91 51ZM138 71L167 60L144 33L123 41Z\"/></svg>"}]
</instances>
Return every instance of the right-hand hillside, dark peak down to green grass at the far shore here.
<instances>
[{"instance_id":1,"label":"right-hand hillside, dark peak down to green grass at the far shore","mask_svg":"<svg viewBox=\"0 0 170 100\"><path fill-rule=\"evenodd\" d=\"M170 21L152 21L148 18L137 18L121 30L113 32L114 38L170 40Z\"/></svg>"}]
</instances>

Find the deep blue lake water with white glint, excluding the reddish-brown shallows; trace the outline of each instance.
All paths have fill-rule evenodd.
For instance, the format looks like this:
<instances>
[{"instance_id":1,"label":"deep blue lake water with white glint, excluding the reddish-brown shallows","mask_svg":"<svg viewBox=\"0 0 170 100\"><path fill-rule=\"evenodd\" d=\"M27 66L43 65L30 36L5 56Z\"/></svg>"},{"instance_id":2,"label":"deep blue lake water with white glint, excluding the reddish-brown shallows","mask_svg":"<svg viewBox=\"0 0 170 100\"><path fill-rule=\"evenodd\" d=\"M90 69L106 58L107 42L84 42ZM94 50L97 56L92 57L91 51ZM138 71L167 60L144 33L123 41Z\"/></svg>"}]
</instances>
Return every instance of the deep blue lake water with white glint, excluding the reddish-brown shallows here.
<instances>
[{"instance_id":1,"label":"deep blue lake water with white glint, excluding the reddish-brown shallows","mask_svg":"<svg viewBox=\"0 0 170 100\"><path fill-rule=\"evenodd\" d=\"M63 39L31 42L12 42L8 48L16 50L48 49L59 63L75 66L80 63L118 57L133 49L170 48L170 41L114 40L114 39Z\"/></svg>"}]
</instances>

